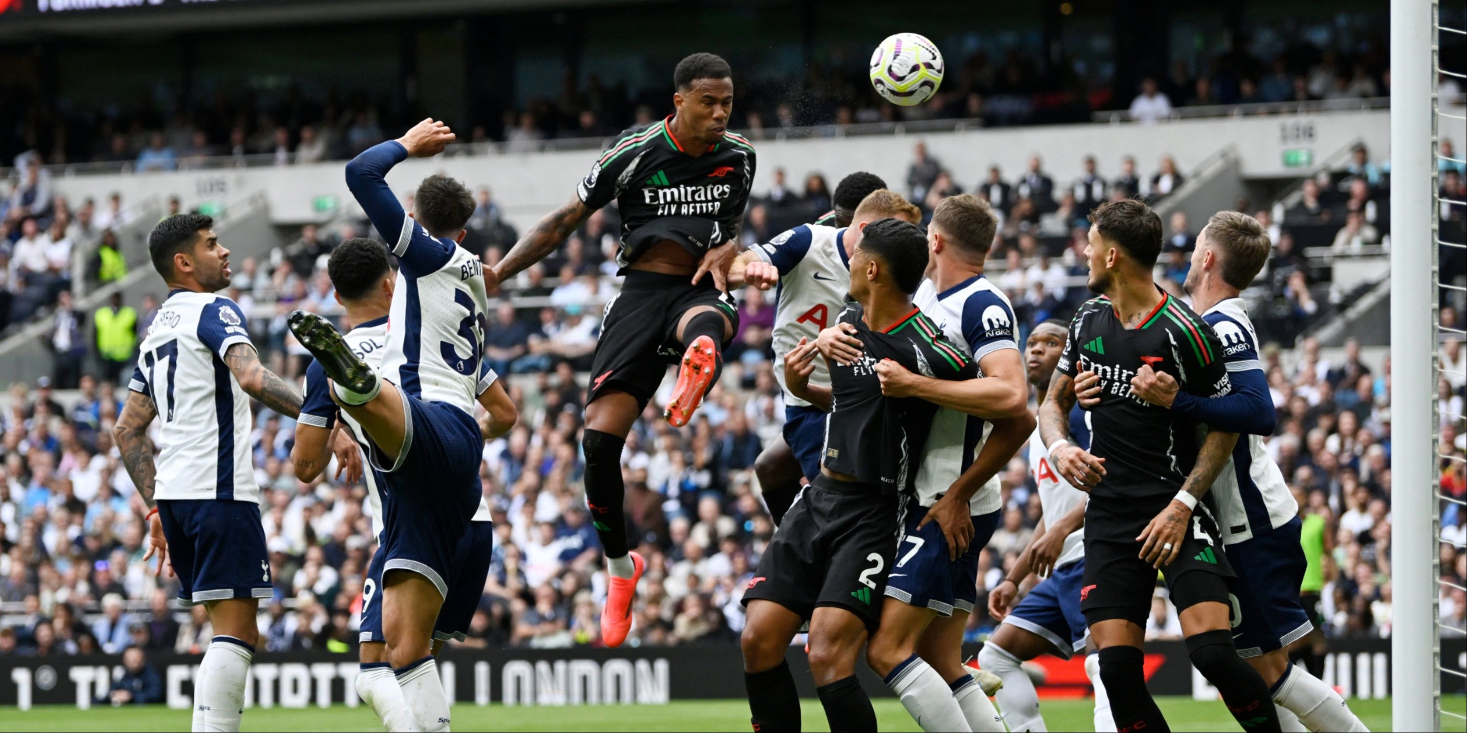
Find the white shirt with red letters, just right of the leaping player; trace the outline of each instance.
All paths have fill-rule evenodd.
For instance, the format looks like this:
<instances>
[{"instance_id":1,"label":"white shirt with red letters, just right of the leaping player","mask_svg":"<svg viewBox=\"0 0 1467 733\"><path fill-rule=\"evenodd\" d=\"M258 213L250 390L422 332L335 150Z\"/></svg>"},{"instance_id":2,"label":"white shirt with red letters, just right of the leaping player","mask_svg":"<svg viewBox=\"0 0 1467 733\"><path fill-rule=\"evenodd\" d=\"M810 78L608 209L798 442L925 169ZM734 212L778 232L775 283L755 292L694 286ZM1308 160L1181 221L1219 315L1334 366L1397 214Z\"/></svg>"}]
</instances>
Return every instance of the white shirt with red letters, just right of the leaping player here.
<instances>
[{"instance_id":1,"label":"white shirt with red letters, just right of the leaping player","mask_svg":"<svg viewBox=\"0 0 1467 733\"><path fill-rule=\"evenodd\" d=\"M835 325L851 290L851 258L845 254L844 235L845 229L801 224L750 248L779 270L775 290L775 381L785 391L785 405L810 405L785 387L785 355L800 345L800 339L814 343L823 328ZM829 387L830 371L824 359L816 359L814 365L810 384Z\"/></svg>"}]
</instances>

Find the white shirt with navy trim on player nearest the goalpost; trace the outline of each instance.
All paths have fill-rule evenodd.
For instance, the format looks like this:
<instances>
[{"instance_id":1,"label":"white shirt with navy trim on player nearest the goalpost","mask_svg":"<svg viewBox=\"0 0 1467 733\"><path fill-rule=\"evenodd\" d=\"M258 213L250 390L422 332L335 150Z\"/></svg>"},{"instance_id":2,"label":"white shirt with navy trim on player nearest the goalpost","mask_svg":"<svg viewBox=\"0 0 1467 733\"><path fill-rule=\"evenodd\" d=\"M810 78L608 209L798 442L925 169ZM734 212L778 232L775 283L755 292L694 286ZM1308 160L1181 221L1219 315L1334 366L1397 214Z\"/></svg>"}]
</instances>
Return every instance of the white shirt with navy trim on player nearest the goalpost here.
<instances>
[{"instance_id":1,"label":"white shirt with navy trim on player nearest the goalpost","mask_svg":"<svg viewBox=\"0 0 1467 733\"><path fill-rule=\"evenodd\" d=\"M1229 377L1257 372L1257 378L1267 380L1259 359L1259 334L1241 298L1219 302L1201 320L1212 325L1222 342L1222 361ZM1238 435L1232 457L1212 484L1212 497L1225 545L1284 526L1298 515L1298 503L1284 481L1284 472L1269 456L1262 435Z\"/></svg>"}]
</instances>

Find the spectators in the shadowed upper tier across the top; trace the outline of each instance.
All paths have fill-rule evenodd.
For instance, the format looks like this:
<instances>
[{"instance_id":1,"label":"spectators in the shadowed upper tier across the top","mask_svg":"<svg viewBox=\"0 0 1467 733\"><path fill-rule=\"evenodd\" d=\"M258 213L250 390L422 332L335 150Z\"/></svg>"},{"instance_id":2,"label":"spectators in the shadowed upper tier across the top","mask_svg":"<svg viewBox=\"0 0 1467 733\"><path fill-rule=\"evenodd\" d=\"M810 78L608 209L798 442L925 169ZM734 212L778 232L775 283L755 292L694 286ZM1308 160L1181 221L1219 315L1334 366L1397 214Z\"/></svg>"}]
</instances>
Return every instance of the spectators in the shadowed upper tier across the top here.
<instances>
[{"instance_id":1,"label":"spectators in the shadowed upper tier across the top","mask_svg":"<svg viewBox=\"0 0 1467 733\"><path fill-rule=\"evenodd\" d=\"M1247 47L1174 57L1168 72L1156 69L1155 78L1138 84L1118 79L1115 65L1062 48L1027 53L1014 45L971 44L964 53L962 45L949 47L945 84L918 107L896 107L877 97L864 56L816 54L802 75L791 79L786 69L754 54L736 66L741 92L734 126L763 139L801 126L827 126L827 133L838 133L844 126L890 120L954 119L989 126L1083 122L1093 111L1118 108L1155 122L1181 107L1388 95L1383 38L1350 38L1354 34L1344 28L1323 35L1273 29ZM594 70L579 78L566 73L559 89L499 108L491 119L449 122L464 130L464 142L531 151L547 141L604 138L650 123L660 114L654 110L665 107L666 92L660 85L632 88L603 81ZM1442 97L1460 95L1455 79L1444 76ZM173 92L172 98L147 97L131 107L91 111L48 111L54 101L32 100L29 107L35 108L16 122L18 132L0 139L0 155L29 151L50 164L113 163L139 172L195 167L208 158L288 166L351 158L383 139L384 130L422 117L421 110L390 103L387 95L334 86L323 91L308 78L276 92L217 91L207 100Z\"/></svg>"}]
</instances>

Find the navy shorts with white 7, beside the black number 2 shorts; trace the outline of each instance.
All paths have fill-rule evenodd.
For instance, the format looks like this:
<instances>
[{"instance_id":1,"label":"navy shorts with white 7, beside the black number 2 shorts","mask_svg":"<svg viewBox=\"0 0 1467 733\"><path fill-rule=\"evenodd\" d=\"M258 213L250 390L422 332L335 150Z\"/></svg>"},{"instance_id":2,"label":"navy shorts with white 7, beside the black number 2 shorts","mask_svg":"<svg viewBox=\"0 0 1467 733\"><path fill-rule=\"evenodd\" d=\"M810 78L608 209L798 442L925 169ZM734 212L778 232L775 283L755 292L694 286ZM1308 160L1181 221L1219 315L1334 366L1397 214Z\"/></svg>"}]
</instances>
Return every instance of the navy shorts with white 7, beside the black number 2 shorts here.
<instances>
[{"instance_id":1,"label":"navy shorts with white 7, beside the black number 2 shorts","mask_svg":"<svg viewBox=\"0 0 1467 733\"><path fill-rule=\"evenodd\" d=\"M915 501L912 501L915 504ZM937 522L917 529L927 516L927 507L915 507L907 515L896 564L886 576L886 595L908 605L932 608L942 616L954 610L973 613L978 600L978 553L987 547L999 528L1002 510L973 517L973 542L956 560L948 559L948 539Z\"/></svg>"}]
</instances>

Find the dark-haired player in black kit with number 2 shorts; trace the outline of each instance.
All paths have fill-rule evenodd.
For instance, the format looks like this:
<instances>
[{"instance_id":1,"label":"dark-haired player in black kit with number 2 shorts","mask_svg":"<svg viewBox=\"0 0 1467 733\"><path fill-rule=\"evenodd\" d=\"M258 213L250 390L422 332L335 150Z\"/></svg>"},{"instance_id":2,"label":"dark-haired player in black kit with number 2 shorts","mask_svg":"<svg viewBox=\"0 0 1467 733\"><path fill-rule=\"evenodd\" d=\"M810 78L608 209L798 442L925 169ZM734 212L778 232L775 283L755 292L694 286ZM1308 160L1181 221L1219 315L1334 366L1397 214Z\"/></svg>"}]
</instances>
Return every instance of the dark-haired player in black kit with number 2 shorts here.
<instances>
[{"instance_id":1,"label":"dark-haired player in black kit with number 2 shorts","mask_svg":"<svg viewBox=\"0 0 1467 733\"><path fill-rule=\"evenodd\" d=\"M830 362L827 390L807 381L819 353L814 343L801 340L785 356L786 386L829 416L820 475L785 515L742 598L744 680L756 730L800 729L800 695L785 651L807 620L810 667L830 729L876 730L855 663L882 617L914 459L937 410L920 399L882 396L876 365L893 359L937 378L977 377L977 365L912 306L926 267L920 229L895 218L868 224L851 255L855 302L836 318L855 327L866 346L861 356ZM954 720L958 730L967 729L961 712Z\"/></svg>"}]
</instances>

